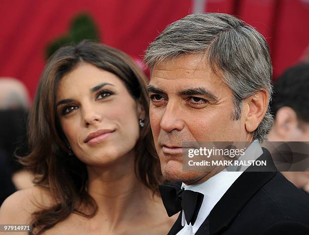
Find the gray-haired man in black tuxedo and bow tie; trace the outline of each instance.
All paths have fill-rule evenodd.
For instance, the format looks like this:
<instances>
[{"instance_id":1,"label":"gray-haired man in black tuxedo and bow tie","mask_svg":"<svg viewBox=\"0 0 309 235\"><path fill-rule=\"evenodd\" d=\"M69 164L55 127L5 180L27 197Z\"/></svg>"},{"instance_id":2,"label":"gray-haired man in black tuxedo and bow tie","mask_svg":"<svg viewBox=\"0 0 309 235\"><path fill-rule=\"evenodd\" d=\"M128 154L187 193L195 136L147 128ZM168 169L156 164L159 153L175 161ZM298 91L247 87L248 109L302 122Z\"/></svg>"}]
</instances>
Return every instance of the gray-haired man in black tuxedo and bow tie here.
<instances>
[{"instance_id":1,"label":"gray-haired man in black tuxedo and bow tie","mask_svg":"<svg viewBox=\"0 0 309 235\"><path fill-rule=\"evenodd\" d=\"M183 142L248 141L270 161L259 144L273 125L263 36L226 14L193 14L169 25L144 61L162 173L183 182L161 188L169 216L181 211L169 234L309 234L309 198L279 172L183 170Z\"/></svg>"}]
</instances>

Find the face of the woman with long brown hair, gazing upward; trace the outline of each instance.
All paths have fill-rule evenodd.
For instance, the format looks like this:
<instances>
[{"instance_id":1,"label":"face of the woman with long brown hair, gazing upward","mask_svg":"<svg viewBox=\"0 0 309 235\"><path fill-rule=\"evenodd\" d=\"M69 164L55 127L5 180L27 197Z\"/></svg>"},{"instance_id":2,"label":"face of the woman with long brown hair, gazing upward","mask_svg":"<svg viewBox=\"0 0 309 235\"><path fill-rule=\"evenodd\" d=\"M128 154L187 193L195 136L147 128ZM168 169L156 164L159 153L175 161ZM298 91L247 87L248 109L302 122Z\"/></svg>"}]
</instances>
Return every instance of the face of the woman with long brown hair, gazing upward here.
<instances>
[{"instance_id":1,"label":"face of the woman with long brown hair, gazing upward","mask_svg":"<svg viewBox=\"0 0 309 235\"><path fill-rule=\"evenodd\" d=\"M130 152L144 118L115 74L81 63L57 89L57 114L69 144L88 166L104 166Z\"/></svg>"}]
</instances>

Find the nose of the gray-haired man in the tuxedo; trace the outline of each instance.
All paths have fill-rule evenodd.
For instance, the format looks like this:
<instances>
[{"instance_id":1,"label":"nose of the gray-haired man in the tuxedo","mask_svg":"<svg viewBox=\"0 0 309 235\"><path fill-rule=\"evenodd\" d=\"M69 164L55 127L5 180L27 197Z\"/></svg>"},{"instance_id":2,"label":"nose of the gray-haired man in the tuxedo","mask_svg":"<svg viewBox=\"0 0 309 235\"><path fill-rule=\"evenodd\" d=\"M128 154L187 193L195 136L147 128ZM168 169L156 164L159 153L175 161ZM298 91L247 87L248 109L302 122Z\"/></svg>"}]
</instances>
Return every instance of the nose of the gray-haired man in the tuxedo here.
<instances>
[{"instance_id":1,"label":"nose of the gray-haired man in the tuxedo","mask_svg":"<svg viewBox=\"0 0 309 235\"><path fill-rule=\"evenodd\" d=\"M178 104L168 103L160 122L161 128L167 132L173 130L181 131L184 128L181 113L181 107Z\"/></svg>"}]
</instances>

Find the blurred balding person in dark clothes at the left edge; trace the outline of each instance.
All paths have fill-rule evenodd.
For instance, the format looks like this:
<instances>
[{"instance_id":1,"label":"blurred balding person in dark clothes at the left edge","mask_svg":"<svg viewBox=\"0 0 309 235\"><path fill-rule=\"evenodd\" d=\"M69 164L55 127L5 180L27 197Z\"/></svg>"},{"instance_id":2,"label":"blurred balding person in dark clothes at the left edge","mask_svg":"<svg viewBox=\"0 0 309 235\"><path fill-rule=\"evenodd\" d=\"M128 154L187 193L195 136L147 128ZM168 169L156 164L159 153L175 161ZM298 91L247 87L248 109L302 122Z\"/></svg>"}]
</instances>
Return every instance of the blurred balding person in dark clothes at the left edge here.
<instances>
[{"instance_id":1,"label":"blurred balding person in dark clothes at the left edge","mask_svg":"<svg viewBox=\"0 0 309 235\"><path fill-rule=\"evenodd\" d=\"M31 175L23 170L14 156L16 148L19 147L20 153L24 150L22 143L26 136L29 103L24 84L11 77L0 78L0 204L16 189L32 186Z\"/></svg>"}]
</instances>

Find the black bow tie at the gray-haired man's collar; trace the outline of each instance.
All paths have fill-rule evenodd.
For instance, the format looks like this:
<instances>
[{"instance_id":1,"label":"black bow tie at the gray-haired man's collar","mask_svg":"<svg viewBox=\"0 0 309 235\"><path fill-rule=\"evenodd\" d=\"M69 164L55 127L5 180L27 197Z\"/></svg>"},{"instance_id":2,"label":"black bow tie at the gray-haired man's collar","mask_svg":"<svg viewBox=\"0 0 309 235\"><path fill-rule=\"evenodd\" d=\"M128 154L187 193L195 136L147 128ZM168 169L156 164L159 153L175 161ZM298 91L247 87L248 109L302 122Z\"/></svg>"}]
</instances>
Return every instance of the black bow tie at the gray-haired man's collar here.
<instances>
[{"instance_id":1,"label":"black bow tie at the gray-haired man's collar","mask_svg":"<svg viewBox=\"0 0 309 235\"><path fill-rule=\"evenodd\" d=\"M204 195L191 190L183 190L179 185L169 183L159 185L159 189L168 215L171 217L183 209L187 224L191 222L193 225Z\"/></svg>"}]
</instances>

